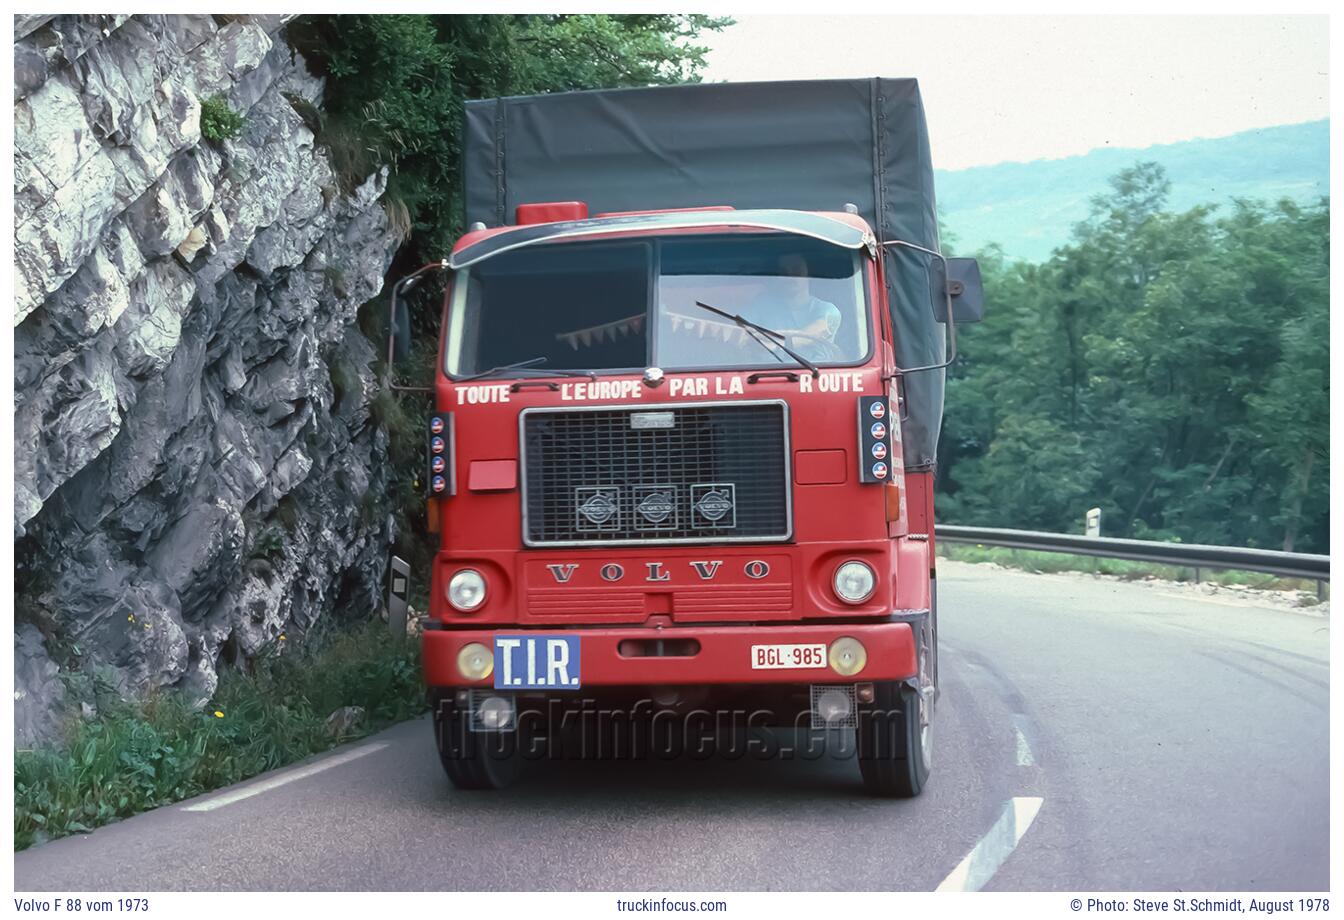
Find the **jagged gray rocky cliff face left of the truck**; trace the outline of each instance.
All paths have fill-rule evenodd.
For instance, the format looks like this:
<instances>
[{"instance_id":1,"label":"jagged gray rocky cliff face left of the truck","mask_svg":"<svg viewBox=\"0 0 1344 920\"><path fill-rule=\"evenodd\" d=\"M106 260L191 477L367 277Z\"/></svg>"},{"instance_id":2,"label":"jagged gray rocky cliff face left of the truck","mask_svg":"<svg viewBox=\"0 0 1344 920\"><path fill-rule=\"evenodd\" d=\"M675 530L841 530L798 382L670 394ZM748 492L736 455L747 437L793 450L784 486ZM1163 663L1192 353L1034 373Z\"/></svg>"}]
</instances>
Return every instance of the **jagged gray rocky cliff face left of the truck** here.
<instances>
[{"instance_id":1,"label":"jagged gray rocky cliff face left of the truck","mask_svg":"<svg viewBox=\"0 0 1344 920\"><path fill-rule=\"evenodd\" d=\"M343 193L280 16L15 20L16 727L58 665L208 696L368 614L391 522L371 344L396 246ZM202 134L202 103L243 116Z\"/></svg>"}]
</instances>

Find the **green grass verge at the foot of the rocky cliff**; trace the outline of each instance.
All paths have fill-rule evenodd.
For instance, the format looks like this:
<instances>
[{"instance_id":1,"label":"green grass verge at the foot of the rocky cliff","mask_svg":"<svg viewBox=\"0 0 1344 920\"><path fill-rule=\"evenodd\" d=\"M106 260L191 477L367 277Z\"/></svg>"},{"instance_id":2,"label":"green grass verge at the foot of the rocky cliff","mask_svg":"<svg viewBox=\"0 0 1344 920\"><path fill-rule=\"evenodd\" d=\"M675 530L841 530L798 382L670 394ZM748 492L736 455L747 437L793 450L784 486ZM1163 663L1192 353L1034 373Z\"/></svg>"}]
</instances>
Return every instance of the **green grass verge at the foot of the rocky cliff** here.
<instances>
[{"instance_id":1,"label":"green grass verge at the foot of the rocky cliff","mask_svg":"<svg viewBox=\"0 0 1344 920\"><path fill-rule=\"evenodd\" d=\"M204 709L179 693L124 702L95 688L98 716L71 719L65 744L16 751L15 849L86 833L325 751L410 719L426 706L419 643L380 622L277 643L249 673L227 672ZM333 733L331 713L362 706Z\"/></svg>"}]
</instances>

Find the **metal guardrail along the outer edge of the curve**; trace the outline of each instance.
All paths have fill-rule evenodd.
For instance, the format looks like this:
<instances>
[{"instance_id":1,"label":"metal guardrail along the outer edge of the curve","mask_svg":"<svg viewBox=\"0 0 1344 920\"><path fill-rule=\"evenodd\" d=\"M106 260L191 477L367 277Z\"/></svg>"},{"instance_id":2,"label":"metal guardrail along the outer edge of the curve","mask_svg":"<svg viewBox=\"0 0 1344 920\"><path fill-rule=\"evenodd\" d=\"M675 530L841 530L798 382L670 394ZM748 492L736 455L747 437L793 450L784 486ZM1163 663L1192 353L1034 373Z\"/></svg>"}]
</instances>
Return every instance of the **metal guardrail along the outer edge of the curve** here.
<instances>
[{"instance_id":1,"label":"metal guardrail along the outer edge of the curve","mask_svg":"<svg viewBox=\"0 0 1344 920\"><path fill-rule=\"evenodd\" d=\"M1246 549L1242 547L1210 547L1199 543L1156 543L1152 540L1121 540L1117 537L1087 537L1081 533L1042 533L1039 531L1009 531L993 526L948 526L935 529L938 540L948 543L976 543L986 547L1038 549L1040 552L1067 552L1078 556L1128 559L1141 563L1185 565L1187 568L1239 568L1249 572L1267 572L1286 578L1328 582L1331 557L1304 552L1277 552L1274 549Z\"/></svg>"}]
</instances>

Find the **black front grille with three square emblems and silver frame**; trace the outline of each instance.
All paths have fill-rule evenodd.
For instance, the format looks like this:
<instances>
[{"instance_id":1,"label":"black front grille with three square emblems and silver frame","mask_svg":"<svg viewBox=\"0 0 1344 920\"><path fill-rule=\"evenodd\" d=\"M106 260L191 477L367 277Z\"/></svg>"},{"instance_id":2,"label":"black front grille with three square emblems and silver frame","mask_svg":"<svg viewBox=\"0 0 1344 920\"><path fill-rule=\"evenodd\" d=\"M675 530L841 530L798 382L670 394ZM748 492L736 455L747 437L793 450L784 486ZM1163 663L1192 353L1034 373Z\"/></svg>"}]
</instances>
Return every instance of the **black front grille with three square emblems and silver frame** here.
<instances>
[{"instance_id":1,"label":"black front grille with three square emblems and silver frame","mask_svg":"<svg viewBox=\"0 0 1344 920\"><path fill-rule=\"evenodd\" d=\"M524 410L523 539L788 540L788 428L781 402Z\"/></svg>"}]
</instances>

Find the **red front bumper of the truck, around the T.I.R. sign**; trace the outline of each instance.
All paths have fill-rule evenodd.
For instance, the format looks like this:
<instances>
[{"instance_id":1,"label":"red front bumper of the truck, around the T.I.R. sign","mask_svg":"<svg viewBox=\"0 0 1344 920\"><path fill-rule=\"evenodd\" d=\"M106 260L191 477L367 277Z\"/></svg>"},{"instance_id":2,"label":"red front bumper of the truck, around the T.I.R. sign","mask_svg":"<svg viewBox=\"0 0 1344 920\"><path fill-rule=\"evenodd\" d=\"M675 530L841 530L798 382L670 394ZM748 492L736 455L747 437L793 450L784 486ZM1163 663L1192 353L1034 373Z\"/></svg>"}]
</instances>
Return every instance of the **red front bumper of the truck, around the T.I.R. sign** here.
<instances>
[{"instance_id":1,"label":"red front bumper of the truck, around the T.I.R. sign","mask_svg":"<svg viewBox=\"0 0 1344 920\"><path fill-rule=\"evenodd\" d=\"M519 635L515 626L478 630L426 630L423 634L425 682L430 686L492 686L493 676L469 681L457 673L457 653L468 642L495 647L495 634ZM554 635L554 626L535 630ZM902 681L918 672L915 637L910 623L835 626L679 626L671 629L571 629L581 639L582 686L640 686L650 684L833 684ZM754 645L831 645L840 637L863 643L868 661L857 674L841 677L829 666L798 669L751 668ZM695 639L694 655L628 657L620 653L624 639Z\"/></svg>"}]
</instances>

